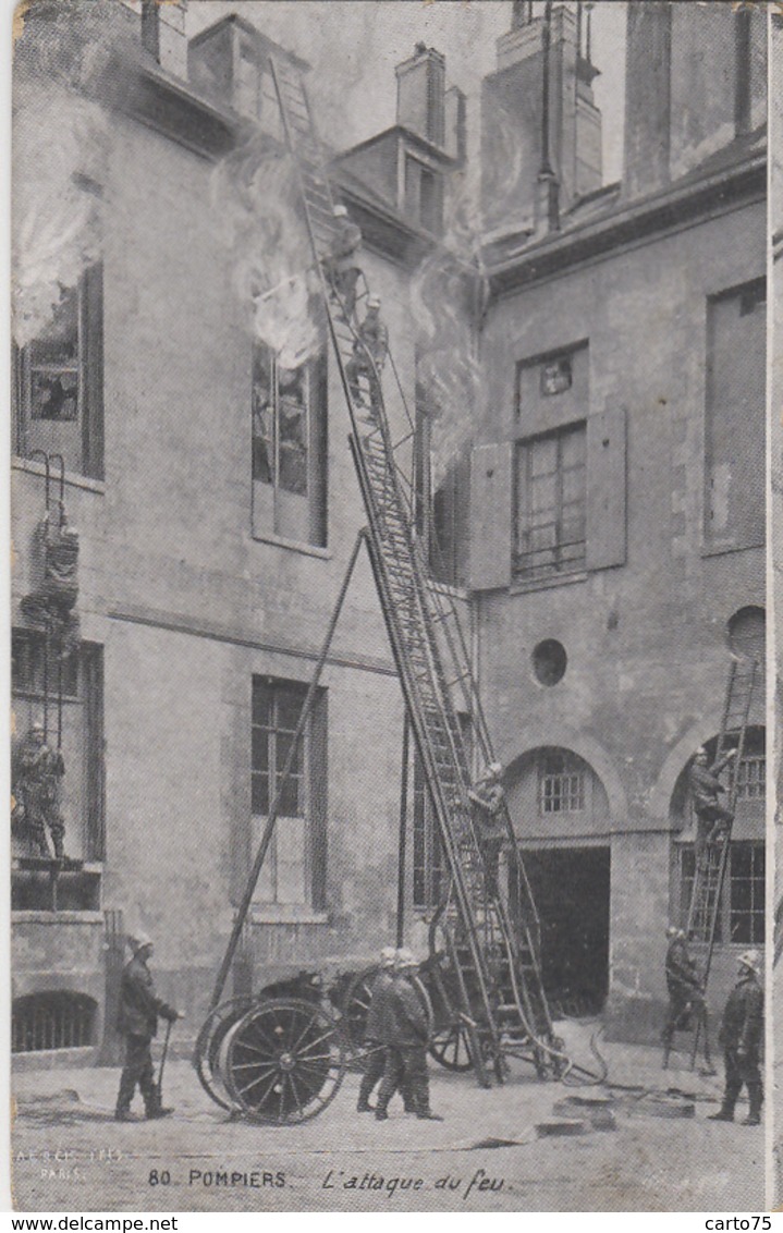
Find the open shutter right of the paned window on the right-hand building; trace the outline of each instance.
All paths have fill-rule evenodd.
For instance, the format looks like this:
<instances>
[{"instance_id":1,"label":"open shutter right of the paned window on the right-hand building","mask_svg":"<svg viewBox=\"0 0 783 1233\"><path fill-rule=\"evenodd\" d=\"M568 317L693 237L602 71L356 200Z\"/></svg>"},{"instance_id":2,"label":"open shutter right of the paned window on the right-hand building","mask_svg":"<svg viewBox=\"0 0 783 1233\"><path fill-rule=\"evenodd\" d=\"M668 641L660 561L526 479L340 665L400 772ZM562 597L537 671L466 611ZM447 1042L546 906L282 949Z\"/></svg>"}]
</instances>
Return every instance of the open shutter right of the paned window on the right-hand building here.
<instances>
[{"instance_id":1,"label":"open shutter right of the paned window on the right-hand building","mask_svg":"<svg viewBox=\"0 0 783 1233\"><path fill-rule=\"evenodd\" d=\"M587 568L625 563L625 407L587 420Z\"/></svg>"}]
</instances>

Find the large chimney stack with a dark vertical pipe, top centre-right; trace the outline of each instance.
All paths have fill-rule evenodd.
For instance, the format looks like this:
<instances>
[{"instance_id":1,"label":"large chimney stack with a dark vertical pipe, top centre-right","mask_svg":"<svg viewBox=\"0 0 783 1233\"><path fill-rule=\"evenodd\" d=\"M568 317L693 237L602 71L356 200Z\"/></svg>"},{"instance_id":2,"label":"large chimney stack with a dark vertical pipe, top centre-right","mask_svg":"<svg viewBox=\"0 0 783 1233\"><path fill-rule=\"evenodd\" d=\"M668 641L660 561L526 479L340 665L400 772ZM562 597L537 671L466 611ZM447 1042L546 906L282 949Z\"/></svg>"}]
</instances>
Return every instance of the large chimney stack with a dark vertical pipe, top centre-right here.
<instances>
[{"instance_id":1,"label":"large chimney stack with a dark vertical pipe, top centre-right","mask_svg":"<svg viewBox=\"0 0 783 1233\"><path fill-rule=\"evenodd\" d=\"M514 5L482 86L483 213L487 231L559 226L561 212L603 182L598 70L582 44L589 22L565 5L534 16Z\"/></svg>"}]
</instances>

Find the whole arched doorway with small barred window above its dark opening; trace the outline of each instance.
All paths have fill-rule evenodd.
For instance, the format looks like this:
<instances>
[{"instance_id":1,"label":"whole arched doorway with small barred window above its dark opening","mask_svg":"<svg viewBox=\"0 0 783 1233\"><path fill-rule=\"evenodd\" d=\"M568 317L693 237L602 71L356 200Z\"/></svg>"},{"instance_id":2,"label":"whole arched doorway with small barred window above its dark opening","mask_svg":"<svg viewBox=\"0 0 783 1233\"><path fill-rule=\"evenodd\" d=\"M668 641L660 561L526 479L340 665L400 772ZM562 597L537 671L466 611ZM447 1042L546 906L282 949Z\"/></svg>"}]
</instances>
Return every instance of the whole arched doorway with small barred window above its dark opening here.
<instances>
[{"instance_id":1,"label":"whole arched doorway with small barred window above its dark opening","mask_svg":"<svg viewBox=\"0 0 783 1233\"><path fill-rule=\"evenodd\" d=\"M610 848L593 837L608 829L607 793L588 762L559 746L524 755L512 774L509 808L541 921L544 988L555 1014L596 1014L609 989ZM530 831L547 837L534 845ZM510 868L512 894L514 882Z\"/></svg>"}]
</instances>

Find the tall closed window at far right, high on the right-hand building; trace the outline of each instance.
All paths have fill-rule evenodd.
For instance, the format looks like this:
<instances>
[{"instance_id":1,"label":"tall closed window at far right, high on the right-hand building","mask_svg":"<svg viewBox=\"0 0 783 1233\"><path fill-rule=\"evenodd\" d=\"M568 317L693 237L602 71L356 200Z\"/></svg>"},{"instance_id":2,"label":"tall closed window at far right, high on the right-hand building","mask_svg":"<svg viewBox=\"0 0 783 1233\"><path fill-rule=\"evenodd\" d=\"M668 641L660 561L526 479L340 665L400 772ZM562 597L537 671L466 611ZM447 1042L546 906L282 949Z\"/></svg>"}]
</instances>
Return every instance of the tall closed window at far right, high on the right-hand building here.
<instances>
[{"instance_id":1,"label":"tall closed window at far right, high on the right-hand building","mask_svg":"<svg viewBox=\"0 0 783 1233\"><path fill-rule=\"evenodd\" d=\"M766 284L708 303L705 543L765 543Z\"/></svg>"}]
</instances>

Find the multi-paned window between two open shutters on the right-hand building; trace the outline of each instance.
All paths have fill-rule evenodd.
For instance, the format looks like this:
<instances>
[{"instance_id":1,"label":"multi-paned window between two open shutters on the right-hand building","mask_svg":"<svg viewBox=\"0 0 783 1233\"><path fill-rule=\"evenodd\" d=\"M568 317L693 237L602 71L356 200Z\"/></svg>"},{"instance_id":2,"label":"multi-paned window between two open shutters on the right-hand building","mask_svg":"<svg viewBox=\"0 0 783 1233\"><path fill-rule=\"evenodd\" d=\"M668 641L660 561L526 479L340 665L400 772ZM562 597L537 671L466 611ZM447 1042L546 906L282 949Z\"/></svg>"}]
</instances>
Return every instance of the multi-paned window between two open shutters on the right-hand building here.
<instances>
[{"instance_id":1,"label":"multi-paned window between two open shutters on the right-hand building","mask_svg":"<svg viewBox=\"0 0 783 1233\"><path fill-rule=\"evenodd\" d=\"M514 575L546 578L584 568L586 428L517 444Z\"/></svg>"}]
</instances>

